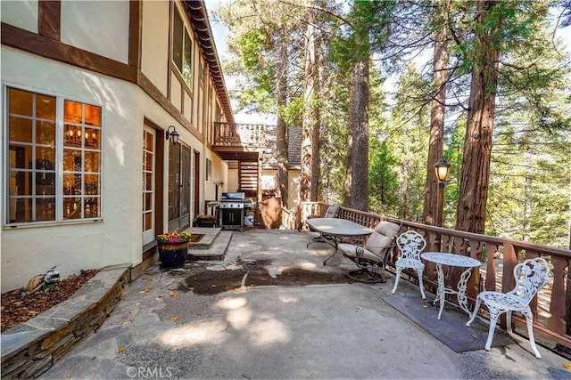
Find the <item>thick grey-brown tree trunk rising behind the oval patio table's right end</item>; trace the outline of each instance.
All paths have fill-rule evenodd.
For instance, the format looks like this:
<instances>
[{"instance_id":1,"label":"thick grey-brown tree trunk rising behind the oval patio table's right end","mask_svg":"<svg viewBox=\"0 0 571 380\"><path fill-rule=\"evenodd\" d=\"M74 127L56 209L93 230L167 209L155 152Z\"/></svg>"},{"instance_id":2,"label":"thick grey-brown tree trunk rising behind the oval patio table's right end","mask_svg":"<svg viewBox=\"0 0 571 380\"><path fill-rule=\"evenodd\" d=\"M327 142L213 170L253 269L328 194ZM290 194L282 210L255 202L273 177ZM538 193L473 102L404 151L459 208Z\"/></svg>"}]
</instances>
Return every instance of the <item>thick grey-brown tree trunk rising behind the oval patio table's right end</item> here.
<instances>
[{"instance_id":1,"label":"thick grey-brown tree trunk rising behind the oval patio table's right end","mask_svg":"<svg viewBox=\"0 0 571 380\"><path fill-rule=\"evenodd\" d=\"M344 206L368 211L368 54L352 67Z\"/></svg>"}]
</instances>

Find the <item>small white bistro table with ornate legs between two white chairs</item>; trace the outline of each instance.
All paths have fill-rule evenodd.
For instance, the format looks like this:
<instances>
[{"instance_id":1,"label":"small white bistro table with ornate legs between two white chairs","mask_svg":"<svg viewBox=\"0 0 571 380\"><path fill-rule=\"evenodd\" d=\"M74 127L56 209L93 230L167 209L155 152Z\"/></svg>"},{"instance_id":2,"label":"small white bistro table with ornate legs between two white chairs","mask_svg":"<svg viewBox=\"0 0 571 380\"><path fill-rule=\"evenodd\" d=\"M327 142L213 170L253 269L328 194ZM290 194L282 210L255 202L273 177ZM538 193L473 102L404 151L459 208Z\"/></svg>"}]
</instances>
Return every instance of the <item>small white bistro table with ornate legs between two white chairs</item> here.
<instances>
[{"instance_id":1,"label":"small white bistro table with ornate legs between two white chairs","mask_svg":"<svg viewBox=\"0 0 571 380\"><path fill-rule=\"evenodd\" d=\"M468 287L468 279L472 272L472 268L479 267L482 265L476 259L472 257L445 254L443 252L425 252L420 255L421 258L425 259L427 262L436 264L436 271L438 272L438 289L436 291L436 298L434 298L433 304L440 301L440 311L438 311L438 319L443 313L444 301L446 301L446 295L456 295L458 297L458 303L463 311L466 311L468 315L471 312L468 310L468 298L466 296L466 289ZM444 285L444 272L443 265L466 268L460 275L458 281L458 291L452 289L451 287L446 287Z\"/></svg>"}]
</instances>

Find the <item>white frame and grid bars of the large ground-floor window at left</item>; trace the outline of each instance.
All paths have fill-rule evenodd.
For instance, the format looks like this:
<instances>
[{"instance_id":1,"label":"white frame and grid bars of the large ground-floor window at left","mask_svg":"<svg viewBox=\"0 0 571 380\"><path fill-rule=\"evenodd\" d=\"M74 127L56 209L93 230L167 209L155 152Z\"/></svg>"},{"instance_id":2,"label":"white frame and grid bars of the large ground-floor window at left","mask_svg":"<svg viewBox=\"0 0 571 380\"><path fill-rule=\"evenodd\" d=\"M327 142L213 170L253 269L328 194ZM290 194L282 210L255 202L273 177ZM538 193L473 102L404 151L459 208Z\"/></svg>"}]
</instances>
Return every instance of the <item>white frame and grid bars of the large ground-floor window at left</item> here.
<instances>
[{"instance_id":1,"label":"white frame and grid bars of the large ground-floor window at left","mask_svg":"<svg viewBox=\"0 0 571 380\"><path fill-rule=\"evenodd\" d=\"M10 125L9 125L9 118L10 118L10 109L9 109L9 91L10 89L13 90L17 90L17 91L24 91L24 92L28 92L28 93L32 93L36 96L49 96L49 97L54 97L55 98L55 120L54 120L54 124L55 124L55 132L54 132L54 175L55 175L55 190L54 190L54 198L55 198L55 204L54 204L54 212L55 212L55 217L54 220L49 220L49 221L32 221L32 222L11 222L10 220L10 209L9 209L9 202L10 202L10 146L11 146L11 140L10 140L10 135L8 134L10 132ZM16 83L12 83L12 82L3 82L2 83L2 94L4 96L4 100L2 102L2 109L3 109L3 122L4 122L4 126L3 126L3 133L4 133L4 143L2 144L2 148L4 149L4 153L3 153L3 158L4 158L4 165L3 165L3 171L4 174L2 175L2 181L4 182L2 189L4 191L4 196L2 197L2 205L4 207L3 213L2 213L2 227L3 229L5 228L9 228L9 229L14 229L14 228L29 228L29 227L42 227L42 226L46 226L46 225L64 225L64 224L81 224L81 223L93 223L93 222L103 222L103 141L104 141L104 133L103 133L103 120L104 120L104 108L103 108L103 104L98 104L95 103L93 101L86 101L83 99L79 99L76 97L72 97L72 96L68 96L67 94L64 93L58 93L58 92L54 92L51 90L47 90L47 89L43 89L43 88L37 88L37 87L32 87L29 85L20 85L20 84L16 84ZM98 172L93 172L93 171L87 171L85 166L82 165L82 169L80 171L81 177L82 177L82 186L83 183L85 182L85 176L89 175L89 174L98 174L99 175L99 193L98 194L87 194L85 186L83 186L83 188L81 189L81 193L79 194L78 198L81 199L81 202L85 202L87 198L98 198L99 199L99 203L98 203L98 208L99 208L99 215L95 216L95 217L86 217L85 215L82 218L73 218L73 219L64 219L64 196L66 194L64 194L64 181L63 181L63 177L64 174L69 173L70 171L64 171L64 167L63 167L63 159L64 159L64 155L63 155L63 150L66 148L65 145L65 133L64 133L64 128L65 125L68 124L69 122L65 121L65 112L64 112L64 103L65 101L73 101L73 102L78 102L82 105L82 109L85 109L85 106L93 106L96 108L100 109L100 114L99 114L99 125L95 126L95 125L87 125L87 123L85 122L85 117L82 119L82 121L79 123L80 125L82 125L83 130L85 131L86 128L98 128L99 129L99 148L98 149L93 149L93 148L87 148L86 144L83 143L81 148L77 148L76 150L81 151L81 158L85 159L85 152L86 151L98 151L99 153L99 162L98 162L98 166L99 166L99 171ZM34 109L33 109L34 111ZM35 119L35 117L32 117L32 119ZM76 123L77 124L77 123ZM94 136L95 137L95 136ZM32 150L36 150L37 149L37 145L41 146L41 145L45 145L45 144L37 144L36 142L32 142L31 143L31 149ZM68 146L69 149L69 146ZM37 170L37 169L34 169ZM72 171L73 172L73 171ZM34 171L29 172L30 174L35 173ZM36 172L37 174L37 172ZM31 186L31 184L30 184ZM69 196L69 194L68 194ZM29 195L26 197L30 197L30 198L35 198L37 197L36 195ZM85 204L81 207L82 209L82 214L85 213Z\"/></svg>"}]
</instances>

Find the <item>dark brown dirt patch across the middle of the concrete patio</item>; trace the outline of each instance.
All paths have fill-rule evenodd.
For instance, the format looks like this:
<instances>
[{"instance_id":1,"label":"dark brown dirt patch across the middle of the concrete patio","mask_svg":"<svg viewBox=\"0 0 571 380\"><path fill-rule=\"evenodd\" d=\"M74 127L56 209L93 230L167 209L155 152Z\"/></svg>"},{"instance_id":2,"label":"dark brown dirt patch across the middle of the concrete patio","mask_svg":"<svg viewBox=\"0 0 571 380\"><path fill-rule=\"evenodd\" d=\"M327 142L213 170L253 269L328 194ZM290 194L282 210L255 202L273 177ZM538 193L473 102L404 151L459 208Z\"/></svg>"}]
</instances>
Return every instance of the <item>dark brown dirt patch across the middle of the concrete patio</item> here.
<instances>
[{"instance_id":1,"label":"dark brown dirt patch across the middle of the concrete patio","mask_svg":"<svg viewBox=\"0 0 571 380\"><path fill-rule=\"evenodd\" d=\"M267 266L269 260L260 260L252 263L242 263L243 268L227 271L209 271L203 267L191 270L190 276L185 280L186 286L193 289L197 295L216 295L239 287L278 286L292 287L319 284L351 284L354 281L343 273L305 271L299 268L290 268L271 277ZM244 283L244 285L243 285Z\"/></svg>"}]
</instances>

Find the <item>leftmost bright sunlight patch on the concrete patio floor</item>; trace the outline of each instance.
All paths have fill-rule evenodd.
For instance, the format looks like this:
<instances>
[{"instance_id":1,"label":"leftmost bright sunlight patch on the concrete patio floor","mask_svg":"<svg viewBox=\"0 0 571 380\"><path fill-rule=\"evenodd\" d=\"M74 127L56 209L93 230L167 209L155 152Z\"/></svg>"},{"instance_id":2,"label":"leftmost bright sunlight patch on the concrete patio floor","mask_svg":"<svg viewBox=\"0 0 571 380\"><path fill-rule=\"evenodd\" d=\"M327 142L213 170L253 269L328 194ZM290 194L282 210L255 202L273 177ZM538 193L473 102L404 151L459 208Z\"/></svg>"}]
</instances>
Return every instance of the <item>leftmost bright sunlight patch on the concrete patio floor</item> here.
<instances>
[{"instance_id":1,"label":"leftmost bright sunlight patch on the concrete patio floor","mask_svg":"<svg viewBox=\"0 0 571 380\"><path fill-rule=\"evenodd\" d=\"M194 325L183 325L167 330L159 336L162 344L185 347L192 344L223 344L230 335L227 325L219 320Z\"/></svg>"}]
</instances>

